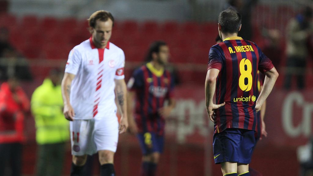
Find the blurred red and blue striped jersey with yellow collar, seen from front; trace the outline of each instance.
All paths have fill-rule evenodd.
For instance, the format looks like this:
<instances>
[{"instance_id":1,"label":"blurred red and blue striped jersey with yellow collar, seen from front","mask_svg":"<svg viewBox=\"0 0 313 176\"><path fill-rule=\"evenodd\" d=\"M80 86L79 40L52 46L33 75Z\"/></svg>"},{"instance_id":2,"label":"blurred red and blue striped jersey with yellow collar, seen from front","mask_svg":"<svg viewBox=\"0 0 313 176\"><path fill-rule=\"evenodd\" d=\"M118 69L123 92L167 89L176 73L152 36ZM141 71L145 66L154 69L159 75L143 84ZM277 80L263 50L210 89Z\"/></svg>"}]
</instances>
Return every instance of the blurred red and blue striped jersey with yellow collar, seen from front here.
<instances>
[{"instance_id":1,"label":"blurred red and blue striped jersey with yellow collar, seen from front","mask_svg":"<svg viewBox=\"0 0 313 176\"><path fill-rule=\"evenodd\" d=\"M158 110L173 97L174 83L168 70L156 70L151 63L135 70L127 83L136 92L135 121L139 132L164 133L165 120Z\"/></svg>"}]
</instances>

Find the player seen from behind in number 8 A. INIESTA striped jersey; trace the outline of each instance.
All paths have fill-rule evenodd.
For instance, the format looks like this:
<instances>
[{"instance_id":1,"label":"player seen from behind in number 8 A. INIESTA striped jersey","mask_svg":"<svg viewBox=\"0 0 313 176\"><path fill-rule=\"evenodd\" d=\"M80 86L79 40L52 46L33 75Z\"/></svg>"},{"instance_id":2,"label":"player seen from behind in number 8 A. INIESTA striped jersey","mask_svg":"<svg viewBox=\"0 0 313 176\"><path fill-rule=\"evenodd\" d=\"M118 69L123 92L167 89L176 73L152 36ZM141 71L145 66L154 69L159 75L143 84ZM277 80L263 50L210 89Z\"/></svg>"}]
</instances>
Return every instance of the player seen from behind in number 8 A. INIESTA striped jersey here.
<instances>
[{"instance_id":1,"label":"player seen from behind in number 8 A. INIESTA striped jersey","mask_svg":"<svg viewBox=\"0 0 313 176\"><path fill-rule=\"evenodd\" d=\"M240 28L241 15L233 8L219 14L218 32L223 42L210 49L205 81L206 107L214 122L214 161L221 164L224 176L250 176L256 113L278 77L259 47L238 37ZM257 70L265 74L260 94Z\"/></svg>"}]
</instances>

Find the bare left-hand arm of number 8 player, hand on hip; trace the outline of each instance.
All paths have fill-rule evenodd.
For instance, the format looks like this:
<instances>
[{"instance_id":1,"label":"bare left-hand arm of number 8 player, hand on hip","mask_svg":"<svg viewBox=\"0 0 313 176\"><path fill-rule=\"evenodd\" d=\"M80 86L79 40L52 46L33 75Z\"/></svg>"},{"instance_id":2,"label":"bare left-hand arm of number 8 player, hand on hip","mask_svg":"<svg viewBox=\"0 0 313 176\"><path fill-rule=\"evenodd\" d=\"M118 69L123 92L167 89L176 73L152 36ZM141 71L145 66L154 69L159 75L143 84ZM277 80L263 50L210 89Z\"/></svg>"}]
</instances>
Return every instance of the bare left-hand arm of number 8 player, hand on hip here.
<instances>
[{"instance_id":1,"label":"bare left-hand arm of number 8 player, hand on hip","mask_svg":"<svg viewBox=\"0 0 313 176\"><path fill-rule=\"evenodd\" d=\"M213 96L215 92L216 78L218 76L218 69L209 69L205 78L205 104L207 107L209 118L215 122L214 110L225 105L225 102L219 105L213 104Z\"/></svg>"}]
</instances>

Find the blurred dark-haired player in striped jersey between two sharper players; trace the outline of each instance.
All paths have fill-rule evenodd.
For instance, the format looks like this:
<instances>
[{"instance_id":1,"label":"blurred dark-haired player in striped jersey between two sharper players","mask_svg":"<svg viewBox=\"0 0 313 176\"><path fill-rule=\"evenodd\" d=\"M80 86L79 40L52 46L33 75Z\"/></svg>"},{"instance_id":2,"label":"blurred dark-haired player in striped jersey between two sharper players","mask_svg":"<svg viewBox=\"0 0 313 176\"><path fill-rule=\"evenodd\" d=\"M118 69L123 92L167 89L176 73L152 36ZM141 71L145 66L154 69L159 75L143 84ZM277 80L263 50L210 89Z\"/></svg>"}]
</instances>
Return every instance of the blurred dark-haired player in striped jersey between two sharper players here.
<instances>
[{"instance_id":1,"label":"blurred dark-haired player in striped jersey between two sharper players","mask_svg":"<svg viewBox=\"0 0 313 176\"><path fill-rule=\"evenodd\" d=\"M141 176L156 175L163 151L165 118L175 106L174 80L166 70L169 56L165 42L152 43L147 55L149 62L135 70L127 83L129 130L137 134L143 154ZM166 100L168 105L165 105Z\"/></svg>"}]
</instances>

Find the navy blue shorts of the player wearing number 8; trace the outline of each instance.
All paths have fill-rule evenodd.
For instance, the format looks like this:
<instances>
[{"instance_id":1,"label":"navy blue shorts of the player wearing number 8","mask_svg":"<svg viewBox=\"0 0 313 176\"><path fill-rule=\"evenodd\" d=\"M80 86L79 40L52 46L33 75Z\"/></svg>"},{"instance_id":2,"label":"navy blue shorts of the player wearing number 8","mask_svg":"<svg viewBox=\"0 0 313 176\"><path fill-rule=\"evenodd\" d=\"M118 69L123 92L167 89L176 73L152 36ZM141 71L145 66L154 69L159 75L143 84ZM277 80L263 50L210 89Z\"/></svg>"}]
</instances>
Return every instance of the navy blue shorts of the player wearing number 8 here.
<instances>
[{"instance_id":1,"label":"navy blue shorts of the player wearing number 8","mask_svg":"<svg viewBox=\"0 0 313 176\"><path fill-rule=\"evenodd\" d=\"M234 162L249 164L255 145L254 131L227 128L213 135L213 154L215 164Z\"/></svg>"}]
</instances>

